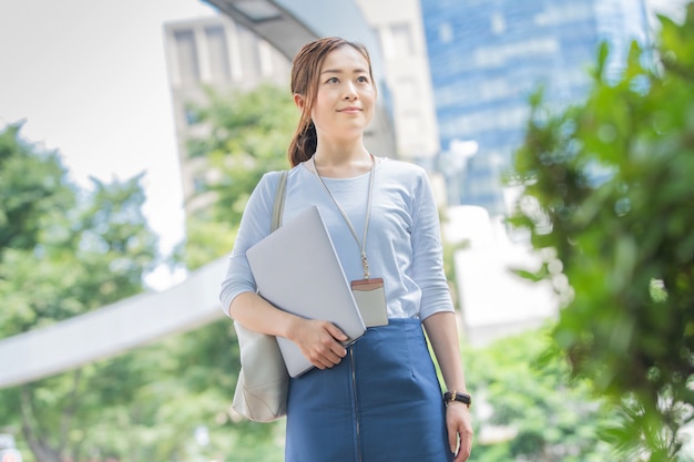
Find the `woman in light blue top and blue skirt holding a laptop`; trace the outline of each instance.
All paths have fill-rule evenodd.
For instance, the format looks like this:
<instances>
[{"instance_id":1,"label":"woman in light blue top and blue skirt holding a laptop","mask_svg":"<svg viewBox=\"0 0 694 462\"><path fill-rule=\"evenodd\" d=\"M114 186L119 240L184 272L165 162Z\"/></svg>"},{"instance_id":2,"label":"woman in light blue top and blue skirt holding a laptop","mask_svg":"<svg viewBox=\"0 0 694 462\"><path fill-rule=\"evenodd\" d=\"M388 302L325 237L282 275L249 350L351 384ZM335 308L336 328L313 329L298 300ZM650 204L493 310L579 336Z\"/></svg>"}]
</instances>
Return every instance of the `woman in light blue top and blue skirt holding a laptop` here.
<instances>
[{"instance_id":1,"label":"woman in light blue top and blue skirt holding a laptop","mask_svg":"<svg viewBox=\"0 0 694 462\"><path fill-rule=\"evenodd\" d=\"M387 325L367 326L345 348L333 324L278 310L255 292L245 253L268 234L279 174L264 175L221 300L233 319L288 338L316 367L289 383L286 461L466 461L469 396L426 173L364 146L376 85L363 45L339 38L306 44L294 59L292 92L302 116L289 146L284 220L318 206L347 278L382 280ZM453 392L446 403L422 324Z\"/></svg>"}]
</instances>

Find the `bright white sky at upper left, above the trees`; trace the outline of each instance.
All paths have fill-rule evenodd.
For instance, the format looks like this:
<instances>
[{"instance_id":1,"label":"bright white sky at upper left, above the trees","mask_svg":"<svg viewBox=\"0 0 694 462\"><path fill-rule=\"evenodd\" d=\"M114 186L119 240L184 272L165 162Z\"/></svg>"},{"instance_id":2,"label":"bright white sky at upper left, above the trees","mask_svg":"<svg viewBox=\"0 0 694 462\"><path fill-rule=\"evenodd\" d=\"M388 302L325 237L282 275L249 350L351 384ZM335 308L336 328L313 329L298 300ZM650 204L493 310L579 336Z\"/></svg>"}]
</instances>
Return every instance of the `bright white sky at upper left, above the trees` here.
<instances>
[{"instance_id":1,"label":"bright white sky at upper left, above the trees","mask_svg":"<svg viewBox=\"0 0 694 462\"><path fill-rule=\"evenodd\" d=\"M146 172L164 253L184 232L163 24L212 14L201 0L0 1L0 127L25 120L23 137L59 150L83 187Z\"/></svg>"}]
</instances>

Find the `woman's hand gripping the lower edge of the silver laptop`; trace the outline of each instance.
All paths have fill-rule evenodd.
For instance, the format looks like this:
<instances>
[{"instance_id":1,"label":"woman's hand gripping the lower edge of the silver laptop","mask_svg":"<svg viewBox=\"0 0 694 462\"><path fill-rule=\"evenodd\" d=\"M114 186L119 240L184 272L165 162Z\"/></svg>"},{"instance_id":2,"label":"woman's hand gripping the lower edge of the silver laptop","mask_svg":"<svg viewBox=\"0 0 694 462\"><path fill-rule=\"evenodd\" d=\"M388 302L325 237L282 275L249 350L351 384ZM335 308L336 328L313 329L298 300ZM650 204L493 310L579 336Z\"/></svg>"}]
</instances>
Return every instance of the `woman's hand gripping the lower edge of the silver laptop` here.
<instances>
[{"instance_id":1,"label":"woman's hand gripping the lower edge of the silver laptop","mask_svg":"<svg viewBox=\"0 0 694 462\"><path fill-rule=\"evenodd\" d=\"M318 369L329 369L347 355L341 341L348 337L334 324L317 319L299 318L292 329L289 340L300 348L302 352Z\"/></svg>"}]
</instances>

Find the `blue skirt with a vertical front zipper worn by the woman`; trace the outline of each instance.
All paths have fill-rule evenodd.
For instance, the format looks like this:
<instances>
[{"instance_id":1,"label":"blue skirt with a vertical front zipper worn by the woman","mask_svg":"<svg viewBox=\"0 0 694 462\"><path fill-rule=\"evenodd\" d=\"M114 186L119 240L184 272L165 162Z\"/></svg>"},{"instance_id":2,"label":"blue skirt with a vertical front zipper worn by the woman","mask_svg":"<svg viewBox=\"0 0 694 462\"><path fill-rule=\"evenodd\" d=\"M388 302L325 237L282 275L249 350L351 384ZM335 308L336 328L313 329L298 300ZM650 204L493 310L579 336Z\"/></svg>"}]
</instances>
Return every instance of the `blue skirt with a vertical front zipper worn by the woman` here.
<instances>
[{"instance_id":1,"label":"blue skirt with a vertical front zipper worn by the woman","mask_svg":"<svg viewBox=\"0 0 694 462\"><path fill-rule=\"evenodd\" d=\"M285 462L452 459L419 319L369 328L339 365L290 380Z\"/></svg>"}]
</instances>

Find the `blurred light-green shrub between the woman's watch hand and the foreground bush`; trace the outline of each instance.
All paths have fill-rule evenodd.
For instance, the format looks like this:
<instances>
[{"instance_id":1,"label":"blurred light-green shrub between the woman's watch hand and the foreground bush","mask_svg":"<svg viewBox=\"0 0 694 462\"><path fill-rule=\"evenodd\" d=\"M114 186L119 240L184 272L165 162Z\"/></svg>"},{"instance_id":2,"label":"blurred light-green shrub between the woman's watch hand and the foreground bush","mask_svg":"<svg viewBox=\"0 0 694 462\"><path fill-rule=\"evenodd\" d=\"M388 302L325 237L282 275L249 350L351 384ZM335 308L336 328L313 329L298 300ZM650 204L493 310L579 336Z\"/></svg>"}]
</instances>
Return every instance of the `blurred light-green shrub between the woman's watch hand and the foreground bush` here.
<instances>
[{"instance_id":1,"label":"blurred light-green shrub between the woman's watch hand and the foreground bush","mask_svg":"<svg viewBox=\"0 0 694 462\"><path fill-rule=\"evenodd\" d=\"M569 365L547 330L463 349L468 388L476 390L473 458L484 462L604 462L602 428L614 411L570 380Z\"/></svg>"}]
</instances>

